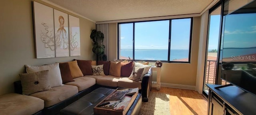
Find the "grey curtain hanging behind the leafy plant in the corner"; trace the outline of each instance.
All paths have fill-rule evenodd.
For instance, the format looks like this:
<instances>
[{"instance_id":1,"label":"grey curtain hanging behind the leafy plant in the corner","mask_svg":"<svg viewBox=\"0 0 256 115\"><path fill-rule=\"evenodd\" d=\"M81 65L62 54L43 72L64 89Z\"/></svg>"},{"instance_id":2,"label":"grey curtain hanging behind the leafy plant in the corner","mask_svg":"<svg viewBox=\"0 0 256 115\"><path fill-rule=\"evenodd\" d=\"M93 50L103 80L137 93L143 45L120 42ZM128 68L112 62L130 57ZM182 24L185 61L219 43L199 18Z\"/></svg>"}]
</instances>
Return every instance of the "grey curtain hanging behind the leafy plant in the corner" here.
<instances>
[{"instance_id":1,"label":"grey curtain hanging behind the leafy plant in the corner","mask_svg":"<svg viewBox=\"0 0 256 115\"><path fill-rule=\"evenodd\" d=\"M109 61L109 24L96 24L96 30L101 31L104 34L103 45L105 46L104 54L107 56Z\"/></svg>"}]
</instances>

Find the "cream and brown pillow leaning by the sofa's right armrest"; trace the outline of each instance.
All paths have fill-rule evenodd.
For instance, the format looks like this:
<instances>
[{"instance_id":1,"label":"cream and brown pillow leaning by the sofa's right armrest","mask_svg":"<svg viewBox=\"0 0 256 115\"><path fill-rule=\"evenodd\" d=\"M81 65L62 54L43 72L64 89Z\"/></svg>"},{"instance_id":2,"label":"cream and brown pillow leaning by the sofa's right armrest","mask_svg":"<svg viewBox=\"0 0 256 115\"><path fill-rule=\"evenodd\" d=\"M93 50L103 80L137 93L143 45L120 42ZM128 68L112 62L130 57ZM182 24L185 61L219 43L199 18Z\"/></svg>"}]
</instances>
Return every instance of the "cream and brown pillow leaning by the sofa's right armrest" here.
<instances>
[{"instance_id":1,"label":"cream and brown pillow leaning by the sofa's right armrest","mask_svg":"<svg viewBox=\"0 0 256 115\"><path fill-rule=\"evenodd\" d=\"M131 79L134 81L140 81L140 77L142 76L143 71L144 71L144 67L134 67L132 70L132 74L128 79Z\"/></svg>"}]
</instances>

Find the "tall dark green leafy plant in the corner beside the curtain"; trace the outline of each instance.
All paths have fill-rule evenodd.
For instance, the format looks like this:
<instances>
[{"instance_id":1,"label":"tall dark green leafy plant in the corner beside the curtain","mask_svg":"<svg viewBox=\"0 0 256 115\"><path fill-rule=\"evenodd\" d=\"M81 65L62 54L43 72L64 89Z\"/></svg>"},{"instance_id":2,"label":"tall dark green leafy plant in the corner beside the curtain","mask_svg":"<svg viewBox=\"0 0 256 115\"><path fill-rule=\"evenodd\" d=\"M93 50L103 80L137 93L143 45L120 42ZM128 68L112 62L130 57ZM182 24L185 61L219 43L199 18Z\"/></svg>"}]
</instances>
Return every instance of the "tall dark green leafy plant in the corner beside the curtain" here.
<instances>
[{"instance_id":1,"label":"tall dark green leafy plant in the corner beside the curtain","mask_svg":"<svg viewBox=\"0 0 256 115\"><path fill-rule=\"evenodd\" d=\"M104 40L104 34L97 30L92 30L90 38L94 42L92 52L95 54L96 61L98 60L107 60L106 54L104 54L105 46L102 44Z\"/></svg>"}]
</instances>

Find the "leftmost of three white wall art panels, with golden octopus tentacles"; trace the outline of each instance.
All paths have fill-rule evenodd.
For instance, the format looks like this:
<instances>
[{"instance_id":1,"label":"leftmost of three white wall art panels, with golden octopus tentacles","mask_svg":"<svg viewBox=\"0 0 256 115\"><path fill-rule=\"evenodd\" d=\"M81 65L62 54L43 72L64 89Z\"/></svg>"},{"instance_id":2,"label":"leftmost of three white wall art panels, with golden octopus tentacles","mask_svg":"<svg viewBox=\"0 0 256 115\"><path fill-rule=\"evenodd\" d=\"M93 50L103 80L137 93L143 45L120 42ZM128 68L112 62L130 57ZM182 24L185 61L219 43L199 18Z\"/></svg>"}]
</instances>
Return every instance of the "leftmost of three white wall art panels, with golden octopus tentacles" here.
<instances>
[{"instance_id":1,"label":"leftmost of three white wall art panels, with golden octopus tentacles","mask_svg":"<svg viewBox=\"0 0 256 115\"><path fill-rule=\"evenodd\" d=\"M55 57L53 8L33 2L36 58Z\"/></svg>"}]
</instances>

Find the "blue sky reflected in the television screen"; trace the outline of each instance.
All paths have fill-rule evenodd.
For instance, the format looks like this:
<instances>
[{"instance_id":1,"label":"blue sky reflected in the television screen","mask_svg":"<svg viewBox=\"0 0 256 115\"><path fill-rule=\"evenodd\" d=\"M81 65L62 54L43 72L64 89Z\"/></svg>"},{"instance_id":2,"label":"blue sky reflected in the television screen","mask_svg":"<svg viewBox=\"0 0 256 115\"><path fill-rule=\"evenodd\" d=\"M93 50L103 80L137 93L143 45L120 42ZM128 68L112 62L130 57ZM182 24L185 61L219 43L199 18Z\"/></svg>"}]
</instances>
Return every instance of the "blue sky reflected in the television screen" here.
<instances>
[{"instance_id":1,"label":"blue sky reflected in the television screen","mask_svg":"<svg viewBox=\"0 0 256 115\"><path fill-rule=\"evenodd\" d=\"M223 48L256 47L256 13L225 17Z\"/></svg>"}]
</instances>

